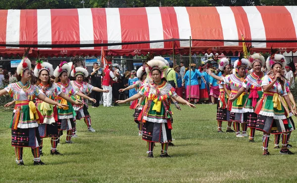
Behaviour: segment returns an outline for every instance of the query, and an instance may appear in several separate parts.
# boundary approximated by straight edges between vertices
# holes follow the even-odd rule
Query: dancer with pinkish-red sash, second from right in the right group
[[[254,136],[258,116],[258,114],[254,113],[254,107],[263,95],[261,83],[265,73],[261,71],[261,68],[265,65],[265,58],[259,53],[254,53],[249,57],[248,61],[249,67],[252,68],[252,73],[247,75],[243,86],[239,89],[236,95],[229,99],[229,101],[233,102],[243,92],[249,89],[247,101],[244,101],[245,105],[243,112],[247,115],[247,127],[250,128],[248,139],[249,142],[253,143],[255,142]]]

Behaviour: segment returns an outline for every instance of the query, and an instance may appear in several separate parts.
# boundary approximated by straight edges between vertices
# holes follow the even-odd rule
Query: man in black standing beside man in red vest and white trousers
[[[102,68],[99,67],[97,62],[93,63],[93,72],[91,73],[91,85],[94,87],[101,88],[101,76],[103,76]],[[92,108],[97,108],[100,105],[101,93],[93,91],[91,93],[91,98],[96,100],[96,103],[93,103]]]

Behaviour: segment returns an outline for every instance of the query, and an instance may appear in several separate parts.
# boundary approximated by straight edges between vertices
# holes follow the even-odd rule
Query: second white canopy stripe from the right
[[[266,40],[262,16],[257,7],[243,6],[243,8],[247,13],[251,40]],[[252,42],[251,45],[256,48],[266,48],[266,42]]]

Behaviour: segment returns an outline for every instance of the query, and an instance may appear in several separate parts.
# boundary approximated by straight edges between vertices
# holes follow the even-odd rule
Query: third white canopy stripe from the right
[[[225,40],[238,40],[237,26],[232,9],[228,6],[216,7],[221,20],[223,37]],[[238,46],[238,42],[225,42],[224,46]]]

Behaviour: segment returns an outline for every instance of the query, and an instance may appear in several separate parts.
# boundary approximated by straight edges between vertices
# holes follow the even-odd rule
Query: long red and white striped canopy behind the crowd
[[[99,55],[100,43],[119,55],[184,52],[192,41],[194,52],[241,51],[241,42],[226,40],[276,40],[252,42],[255,50],[271,46],[284,51],[297,48],[297,6],[139,7],[0,10],[0,45],[31,45],[45,55]],[[217,39],[220,41],[210,41]],[[224,41],[225,40],[225,41]],[[295,42],[294,42],[295,41]],[[38,45],[77,45],[75,48],[38,48]],[[81,47],[84,44],[98,47]],[[97,44],[97,45],[96,45]],[[247,43],[248,44],[248,43]],[[80,46],[81,45],[81,46]],[[0,53],[23,49],[2,47]]]

